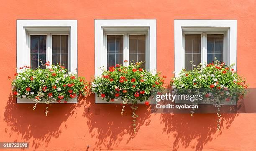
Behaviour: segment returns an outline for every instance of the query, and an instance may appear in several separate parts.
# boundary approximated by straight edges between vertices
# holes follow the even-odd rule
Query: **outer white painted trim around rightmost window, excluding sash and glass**
[[[175,77],[184,68],[184,50],[182,49],[182,31],[227,31],[226,49],[228,65],[235,64],[237,52],[237,20],[174,20],[174,67]],[[205,43],[205,41],[203,41]],[[205,49],[205,48],[204,48]],[[205,53],[205,50],[203,51]]]

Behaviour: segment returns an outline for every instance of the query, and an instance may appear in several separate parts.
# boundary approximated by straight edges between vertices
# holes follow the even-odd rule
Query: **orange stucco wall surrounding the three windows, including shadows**
[[[33,104],[15,103],[7,78],[15,73],[17,19],[77,20],[78,70],[87,80],[95,72],[94,19],[156,19],[157,69],[167,79],[174,71],[174,19],[232,19],[237,20],[238,73],[256,87],[255,0],[6,0],[0,11],[0,142],[30,142],[27,151],[256,150],[255,114],[223,115],[218,132],[216,115],[150,114],[139,105],[133,135],[131,112],[122,117],[119,104],[96,105],[91,95],[75,105],[51,105],[46,117],[44,104],[33,111]]]

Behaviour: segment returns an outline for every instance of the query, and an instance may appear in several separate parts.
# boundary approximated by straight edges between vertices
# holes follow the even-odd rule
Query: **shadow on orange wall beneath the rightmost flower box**
[[[161,114],[164,124],[163,133],[175,138],[173,151],[179,147],[195,148],[202,151],[205,144],[221,135],[223,129],[228,129],[238,114],[221,114],[220,131],[217,130],[217,114]]]

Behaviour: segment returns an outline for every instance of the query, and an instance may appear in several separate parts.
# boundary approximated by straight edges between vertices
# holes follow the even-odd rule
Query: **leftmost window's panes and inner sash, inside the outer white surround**
[[[41,66],[46,61],[52,64],[62,64],[62,66],[69,69],[68,55],[69,55],[69,35],[47,33],[47,35],[37,35],[36,33],[29,34],[30,38],[30,67],[31,69],[45,68]],[[51,41],[47,44],[46,41]],[[47,54],[52,56],[46,57]]]

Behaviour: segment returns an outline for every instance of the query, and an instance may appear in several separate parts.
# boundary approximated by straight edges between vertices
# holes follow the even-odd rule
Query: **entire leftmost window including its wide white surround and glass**
[[[44,68],[38,59],[76,72],[77,20],[17,20],[17,67]]]

